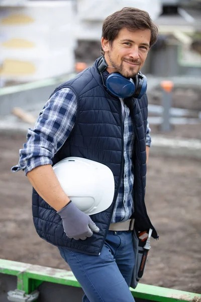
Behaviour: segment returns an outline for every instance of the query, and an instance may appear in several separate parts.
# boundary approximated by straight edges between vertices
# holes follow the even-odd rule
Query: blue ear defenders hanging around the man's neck
[[[98,63],[97,69],[100,75],[108,67],[108,64],[104,57],[102,57]],[[104,80],[103,80],[104,84]],[[115,96],[119,98],[129,98],[133,97],[136,99],[141,99],[145,95],[147,90],[147,78],[141,72],[136,74],[134,79],[127,79],[123,77],[119,72],[112,72],[108,75],[106,80],[106,88]]]

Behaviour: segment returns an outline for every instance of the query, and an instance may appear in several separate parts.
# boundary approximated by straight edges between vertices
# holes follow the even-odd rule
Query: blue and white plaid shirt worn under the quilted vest
[[[27,143],[20,149],[19,165],[12,172],[24,170],[25,174],[42,165],[52,165],[52,158],[68,138],[76,119],[76,96],[69,88],[56,92],[45,104],[34,129],[28,129]],[[124,106],[124,176],[117,197],[112,223],[126,221],[134,211],[132,188],[134,182],[132,146],[135,138],[129,108]],[[150,128],[147,127],[146,144],[151,145]]]

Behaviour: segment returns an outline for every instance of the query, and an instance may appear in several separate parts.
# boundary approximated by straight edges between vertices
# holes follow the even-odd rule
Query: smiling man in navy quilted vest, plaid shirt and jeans
[[[124,8],[109,16],[101,39],[104,57],[54,91],[12,169],[23,169],[33,185],[36,230],[58,246],[85,292],[84,302],[133,301],[134,219],[136,231],[151,228],[157,238],[144,203],[147,96],[117,97],[107,83],[114,71],[131,85],[130,78],[141,81],[138,72],[157,33],[147,12]],[[107,210],[89,217],[63,192],[52,164],[69,156],[112,170],[115,196]]]

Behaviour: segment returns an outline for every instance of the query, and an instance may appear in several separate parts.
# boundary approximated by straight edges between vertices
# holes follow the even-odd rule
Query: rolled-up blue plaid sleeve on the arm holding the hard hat
[[[76,119],[77,100],[73,91],[63,88],[45,104],[34,129],[29,128],[27,142],[20,149],[19,165],[11,171],[25,174],[42,165],[52,164],[52,158],[68,138]]]

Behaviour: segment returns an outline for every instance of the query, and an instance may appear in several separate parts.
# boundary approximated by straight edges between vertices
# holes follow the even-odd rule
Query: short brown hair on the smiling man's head
[[[150,29],[150,48],[156,43],[158,27],[153,23],[147,12],[136,8],[123,8],[121,11],[108,16],[103,23],[102,37],[112,43],[124,27],[131,31]],[[103,48],[101,52],[104,55]]]

